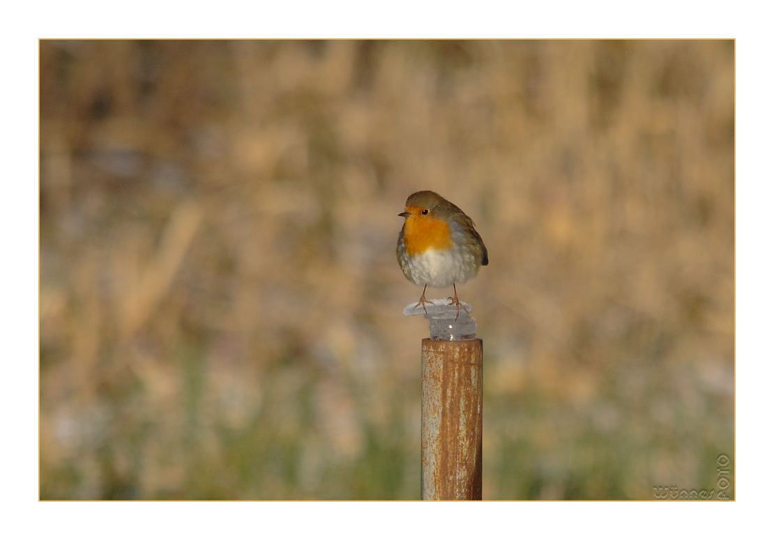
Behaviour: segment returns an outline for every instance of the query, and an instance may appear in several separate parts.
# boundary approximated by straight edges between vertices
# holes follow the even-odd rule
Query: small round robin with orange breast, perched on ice
[[[406,279],[424,285],[416,306],[425,308],[427,285],[441,289],[452,285],[460,315],[457,283],[478,274],[478,268],[489,264],[484,241],[474,229],[473,220],[448,200],[433,191],[418,191],[406,200],[405,217],[398,235],[398,262]],[[430,302],[433,303],[433,302]]]

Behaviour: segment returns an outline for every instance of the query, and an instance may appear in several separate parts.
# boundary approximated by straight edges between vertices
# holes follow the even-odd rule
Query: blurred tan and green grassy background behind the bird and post
[[[733,41],[39,53],[41,499],[419,498],[417,190],[489,251],[485,499],[734,497]]]

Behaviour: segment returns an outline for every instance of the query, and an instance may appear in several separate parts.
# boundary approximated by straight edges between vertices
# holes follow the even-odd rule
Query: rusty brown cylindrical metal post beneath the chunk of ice
[[[481,501],[483,351],[422,340],[423,501]]]

